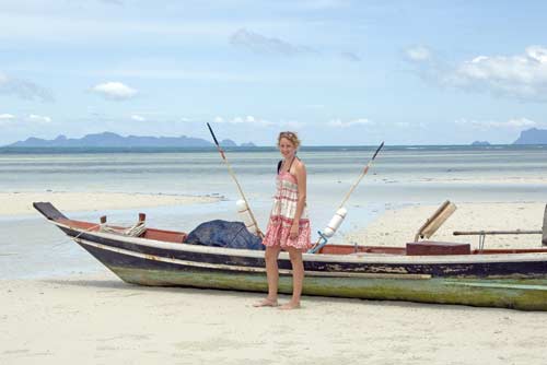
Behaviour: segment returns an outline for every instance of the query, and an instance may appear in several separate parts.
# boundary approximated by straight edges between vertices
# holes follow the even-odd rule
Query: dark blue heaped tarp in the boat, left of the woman
[[[186,244],[264,250],[263,239],[255,236],[242,222],[210,221],[188,234]]]

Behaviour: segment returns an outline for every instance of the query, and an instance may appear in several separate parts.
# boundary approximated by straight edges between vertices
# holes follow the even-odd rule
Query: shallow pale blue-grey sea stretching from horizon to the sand
[[[361,229],[385,210],[458,202],[547,202],[547,145],[302,148],[307,209],[323,229],[344,197],[348,216],[333,243]],[[280,154],[275,148],[226,149],[258,223],[265,229]],[[212,203],[147,208],[149,226],[190,232],[202,222],[237,221],[240,193],[226,162],[213,149],[0,149],[0,192],[129,192],[209,196]],[[139,210],[72,212],[78,220],[132,224]],[[410,233],[411,235],[411,233]],[[38,213],[0,217],[0,275],[51,278],[105,270]]]

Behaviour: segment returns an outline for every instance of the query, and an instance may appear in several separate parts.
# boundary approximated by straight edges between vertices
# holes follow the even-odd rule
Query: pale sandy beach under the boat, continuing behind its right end
[[[433,238],[453,240],[456,228],[539,228],[545,208],[457,205]],[[387,210],[346,239],[401,245],[435,209]],[[539,247],[540,237],[489,237],[487,246]],[[94,274],[2,280],[0,363],[546,362],[546,313],[327,297],[304,297],[302,309],[280,311],[252,307],[259,293],[133,286],[97,268]]]

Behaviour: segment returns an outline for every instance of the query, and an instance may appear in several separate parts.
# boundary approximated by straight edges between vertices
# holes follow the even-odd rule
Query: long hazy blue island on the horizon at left
[[[234,148],[237,144],[232,140],[219,142],[224,148]],[[59,136],[54,140],[44,140],[31,137],[7,145],[9,148],[210,148],[213,143],[193,137],[150,137],[127,136],[123,137],[113,132],[86,134],[82,138],[67,138]],[[243,143],[241,146],[254,148],[253,142]]]

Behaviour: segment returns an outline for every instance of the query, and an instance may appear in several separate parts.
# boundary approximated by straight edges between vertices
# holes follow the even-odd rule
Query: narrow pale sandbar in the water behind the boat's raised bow
[[[0,216],[33,214],[35,201],[49,201],[67,212],[100,211],[150,207],[187,205],[214,202],[222,197],[196,197],[179,195],[151,195],[124,192],[0,192]]]

